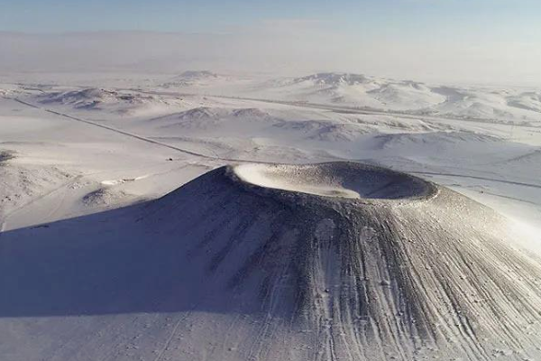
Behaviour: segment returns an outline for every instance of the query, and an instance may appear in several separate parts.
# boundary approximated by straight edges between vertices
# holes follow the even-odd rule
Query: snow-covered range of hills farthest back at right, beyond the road
[[[538,91],[441,87],[349,73],[309,75],[285,81],[281,87],[289,87],[291,97],[306,101],[436,116],[541,121]]]

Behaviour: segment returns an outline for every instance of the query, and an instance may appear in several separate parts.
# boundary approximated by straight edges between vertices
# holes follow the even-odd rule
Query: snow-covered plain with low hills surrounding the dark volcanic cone
[[[225,164],[248,163],[250,170],[250,162],[344,160],[381,164],[463,193],[529,235],[517,237],[517,246],[541,252],[538,88],[341,73],[0,79],[0,358],[280,356],[267,355],[264,344],[295,338],[287,322],[279,327],[254,317],[255,310],[239,312],[248,306],[220,304],[217,293],[183,297],[181,304],[177,297],[153,299],[175,277],[193,289],[220,279],[190,281],[189,268],[172,262],[179,250],[168,242],[177,230],[160,218],[186,222],[190,205],[176,205],[169,218],[167,212],[151,218],[147,205]],[[156,222],[151,227],[147,216]],[[142,238],[155,245],[145,248]],[[149,264],[131,264],[143,255]],[[197,307],[197,297],[205,297],[205,307]],[[299,339],[288,355],[306,355],[303,347]],[[239,348],[246,354],[239,356]],[[525,359],[521,352],[502,346],[487,358]]]

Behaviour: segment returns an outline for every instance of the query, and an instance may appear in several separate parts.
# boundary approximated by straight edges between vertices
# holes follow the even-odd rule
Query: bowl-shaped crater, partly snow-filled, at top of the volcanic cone
[[[355,162],[242,164],[234,174],[262,188],[342,199],[421,199],[436,193],[426,180]]]

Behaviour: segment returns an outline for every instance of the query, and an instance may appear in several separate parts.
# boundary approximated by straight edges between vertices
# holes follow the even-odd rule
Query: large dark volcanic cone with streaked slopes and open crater
[[[261,319],[238,359],[540,356],[539,261],[452,190],[349,162],[242,165],[147,211],[212,280],[196,303]]]

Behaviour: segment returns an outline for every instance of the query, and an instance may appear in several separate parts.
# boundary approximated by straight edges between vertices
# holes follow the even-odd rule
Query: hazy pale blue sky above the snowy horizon
[[[41,65],[54,64],[50,47],[76,47],[79,60],[91,50],[100,69],[153,63],[541,83],[541,1],[0,0],[0,70],[40,69],[31,57],[41,48]]]

